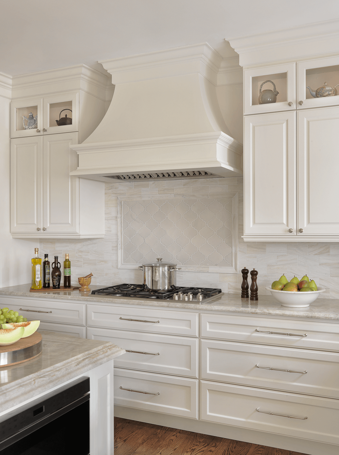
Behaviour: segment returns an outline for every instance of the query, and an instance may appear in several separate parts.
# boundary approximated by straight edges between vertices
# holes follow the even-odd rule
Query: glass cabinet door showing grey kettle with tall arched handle
[[[244,114],[296,109],[295,63],[244,70]]]

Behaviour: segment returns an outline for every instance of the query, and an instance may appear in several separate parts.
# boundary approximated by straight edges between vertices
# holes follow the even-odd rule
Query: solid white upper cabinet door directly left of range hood
[[[44,136],[43,206],[44,227],[49,233],[76,233],[78,227],[79,179],[70,177],[77,168],[78,133]]]

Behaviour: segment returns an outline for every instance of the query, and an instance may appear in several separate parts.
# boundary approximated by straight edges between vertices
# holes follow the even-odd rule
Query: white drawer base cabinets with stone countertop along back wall
[[[224,294],[198,304],[29,293],[27,284],[0,289],[3,306],[22,308],[43,328],[125,349],[115,361],[116,416],[338,453],[338,300],[297,309],[272,296]]]

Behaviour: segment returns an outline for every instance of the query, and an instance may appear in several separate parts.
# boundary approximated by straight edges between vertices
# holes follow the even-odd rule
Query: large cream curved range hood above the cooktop
[[[78,177],[104,182],[242,175],[242,145],[217,100],[222,57],[207,43],[100,61],[115,92],[93,133],[71,148]]]

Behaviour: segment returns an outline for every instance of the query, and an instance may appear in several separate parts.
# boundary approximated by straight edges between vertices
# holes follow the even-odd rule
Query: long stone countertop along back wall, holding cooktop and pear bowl
[[[103,286],[96,285],[90,286],[92,290],[102,287]],[[190,309],[195,311],[208,310],[229,313],[252,313],[297,318],[339,320],[339,300],[334,298],[319,297],[311,303],[309,307],[288,308],[281,306],[271,295],[259,295],[259,300],[253,302],[249,299],[241,298],[240,293],[228,293],[215,297],[213,300],[209,301],[209,303],[199,305],[197,303],[178,302],[173,300],[152,300],[150,298],[92,296],[90,292],[84,293],[79,292],[79,290],[55,293],[35,293],[30,292],[30,284],[0,288],[0,296],[3,295],[72,300],[75,302],[78,301],[92,304],[104,303],[105,305],[127,304],[147,307]]]

